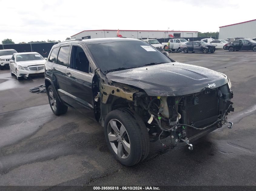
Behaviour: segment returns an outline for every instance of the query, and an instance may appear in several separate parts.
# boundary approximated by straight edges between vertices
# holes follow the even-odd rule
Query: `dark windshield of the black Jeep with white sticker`
[[[174,62],[144,41],[125,41],[88,45],[102,72],[136,68],[145,64]]]

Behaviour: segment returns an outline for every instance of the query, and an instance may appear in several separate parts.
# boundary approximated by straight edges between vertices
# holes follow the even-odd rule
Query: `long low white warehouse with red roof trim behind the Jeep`
[[[71,39],[89,39],[89,38],[111,38],[111,37],[126,37],[135,39],[147,38],[170,38],[181,37],[190,38],[197,37],[198,31],[177,31],[177,30],[83,30],[71,36]]]

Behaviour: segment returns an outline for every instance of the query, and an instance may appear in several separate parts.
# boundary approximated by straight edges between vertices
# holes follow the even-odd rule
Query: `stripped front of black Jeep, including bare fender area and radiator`
[[[198,93],[176,96],[149,96],[143,89],[133,85],[109,80],[96,71],[93,81],[95,117],[104,126],[105,116],[118,108],[129,108],[145,122],[151,142],[170,136],[177,147],[191,142],[221,128],[228,123],[227,115],[234,111],[230,80],[226,84],[208,84]],[[194,88],[195,89],[195,88]],[[151,92],[152,94],[152,92]],[[164,144],[162,144],[165,146]]]

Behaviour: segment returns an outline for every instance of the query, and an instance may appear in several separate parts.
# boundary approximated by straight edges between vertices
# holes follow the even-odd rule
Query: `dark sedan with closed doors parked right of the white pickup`
[[[214,53],[217,45],[208,44],[203,41],[193,41],[185,43],[185,45],[181,46],[181,51],[184,53],[188,52],[202,52],[202,53]]]

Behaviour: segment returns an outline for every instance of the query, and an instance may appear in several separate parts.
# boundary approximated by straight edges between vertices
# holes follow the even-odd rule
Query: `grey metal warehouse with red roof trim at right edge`
[[[219,39],[227,40],[235,37],[251,39],[256,37],[256,19],[220,27]]]

